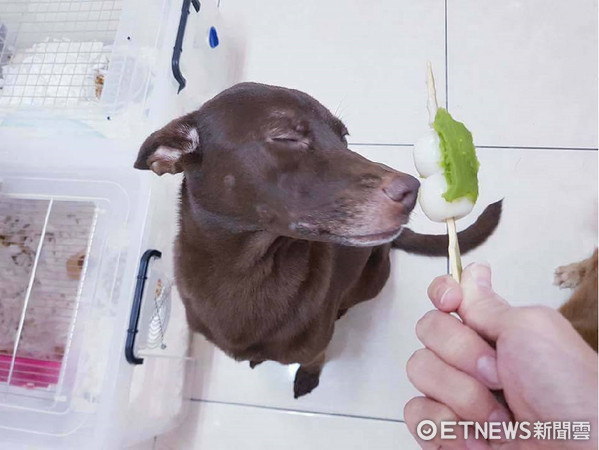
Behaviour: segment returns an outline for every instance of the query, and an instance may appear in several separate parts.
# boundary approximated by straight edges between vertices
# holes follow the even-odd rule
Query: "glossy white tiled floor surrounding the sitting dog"
[[[505,198],[496,234],[465,262],[490,262],[514,304],[564,301],[554,268],[597,242],[596,2],[222,0],[221,9],[245,22],[246,79],[340,107],[354,150],[409,173],[410,148],[392,144],[426,127],[427,59],[444,98],[447,17],[449,109],[482,144],[480,200],[460,227]],[[411,226],[444,231],[420,211]],[[443,259],[396,252],[383,293],[338,322],[321,385],[299,400],[294,367],[250,370],[197,337],[189,418],[140,448],[415,448],[401,422],[415,394],[404,365],[430,309],[426,287],[444,271]]]

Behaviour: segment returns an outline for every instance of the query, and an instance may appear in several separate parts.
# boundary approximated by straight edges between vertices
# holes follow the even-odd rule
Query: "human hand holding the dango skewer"
[[[429,419],[506,422],[584,421],[597,448],[597,354],[557,311],[511,307],[491,287],[491,269],[468,266],[458,284],[436,278],[428,294],[437,310],[416,324],[425,348],[407,363],[410,381],[426,397],[411,399],[404,417],[414,436]],[[450,315],[457,312],[462,319]],[[507,407],[493,390],[503,389]],[[459,430],[456,429],[456,430]],[[459,433],[456,433],[459,434]],[[417,440],[419,440],[417,438]],[[564,448],[559,440],[419,440],[423,448]]]

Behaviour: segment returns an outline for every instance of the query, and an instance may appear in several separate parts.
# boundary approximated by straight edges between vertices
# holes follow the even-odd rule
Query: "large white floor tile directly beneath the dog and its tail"
[[[411,151],[404,147],[359,147],[364,156],[413,173]],[[483,207],[505,198],[496,234],[465,262],[486,260],[494,268],[498,292],[514,304],[557,306],[567,291],[552,285],[555,267],[589,255],[597,240],[597,152],[482,149],[481,196],[462,221],[466,227]],[[410,226],[444,232],[420,210]],[[383,292],[352,308],[337,322],[320,386],[293,399],[296,366],[266,362],[251,370],[196,338],[199,358],[193,396],[285,409],[401,419],[405,402],[415,395],[404,367],[419,343],[414,324],[430,303],[426,288],[444,273],[443,258],[395,251],[392,273]]]

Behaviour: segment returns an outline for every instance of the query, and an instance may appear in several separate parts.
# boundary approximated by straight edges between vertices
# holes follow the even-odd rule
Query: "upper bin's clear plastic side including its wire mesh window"
[[[0,0],[0,120],[114,120],[150,89],[166,0]]]

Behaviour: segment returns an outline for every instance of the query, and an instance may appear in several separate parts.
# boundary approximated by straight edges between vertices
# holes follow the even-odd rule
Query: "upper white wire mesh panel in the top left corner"
[[[99,102],[123,0],[0,0],[0,108]]]

